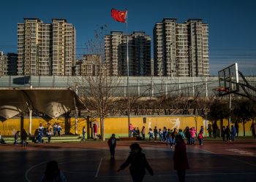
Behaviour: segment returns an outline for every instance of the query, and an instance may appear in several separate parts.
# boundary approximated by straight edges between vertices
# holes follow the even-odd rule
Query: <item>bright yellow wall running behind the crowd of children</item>
[[[34,131],[39,127],[39,123],[42,123],[44,127],[47,127],[47,123],[50,124],[59,123],[62,127],[62,133],[65,131],[65,119],[42,119],[42,118],[33,118],[32,119],[32,135],[34,135]],[[98,121],[99,122],[99,121]],[[164,126],[170,129],[174,129],[175,127],[178,129],[184,130],[185,127],[195,127],[197,128],[197,132],[200,130],[200,126],[204,126],[205,135],[208,133],[206,128],[208,124],[212,124],[209,121],[206,121],[202,117],[193,117],[193,116],[147,116],[146,123],[143,123],[143,116],[134,116],[130,118],[130,122],[133,127],[141,128],[143,126],[146,127],[146,134],[148,133],[149,127],[152,129],[157,126],[157,128],[163,128]],[[220,122],[217,122],[220,128]],[[246,135],[252,135],[250,131],[250,126],[252,122],[246,122],[245,130]],[[223,125],[227,126],[227,120],[223,121]],[[14,135],[17,130],[20,130],[21,122],[20,118],[12,118],[7,119],[5,121],[0,122],[0,132],[1,135]],[[78,118],[78,134],[82,133],[82,128],[85,126],[87,128],[87,123],[85,118]],[[113,118],[105,118],[105,138],[109,138],[112,133],[116,134],[116,137],[119,136],[128,136],[128,119],[127,117],[113,117]],[[23,119],[23,128],[29,132],[29,118]],[[91,130],[90,130],[91,131]],[[100,128],[98,128],[100,132]],[[70,119],[70,133],[75,134],[75,118]],[[243,125],[239,124],[239,135],[244,135]],[[148,135],[146,135],[148,137]]]

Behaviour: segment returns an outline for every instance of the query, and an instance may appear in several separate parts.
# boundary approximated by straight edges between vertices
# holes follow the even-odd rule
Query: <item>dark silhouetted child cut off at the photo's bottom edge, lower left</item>
[[[47,168],[45,173],[42,175],[40,182],[48,181],[67,182],[64,174],[59,170],[58,162],[54,160],[47,163]]]

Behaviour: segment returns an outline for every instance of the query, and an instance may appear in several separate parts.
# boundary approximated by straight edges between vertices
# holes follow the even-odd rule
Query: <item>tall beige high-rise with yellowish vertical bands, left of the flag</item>
[[[71,75],[75,61],[75,27],[65,19],[18,23],[18,75]]]

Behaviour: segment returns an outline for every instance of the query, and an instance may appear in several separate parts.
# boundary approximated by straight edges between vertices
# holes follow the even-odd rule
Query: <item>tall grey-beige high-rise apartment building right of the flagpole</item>
[[[153,34],[155,76],[209,76],[208,24],[164,18]]]

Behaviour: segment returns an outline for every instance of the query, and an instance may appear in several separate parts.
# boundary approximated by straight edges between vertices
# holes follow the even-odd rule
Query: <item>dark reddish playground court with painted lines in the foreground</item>
[[[118,141],[115,159],[102,141],[83,143],[29,143],[0,145],[0,181],[39,181],[46,163],[55,159],[67,181],[132,181],[129,169],[116,173],[129,154],[132,141]],[[177,181],[173,170],[173,149],[164,143],[139,141],[154,176],[144,181]],[[203,146],[187,146],[190,170],[187,181],[256,181],[256,140],[234,143],[204,141]]]

